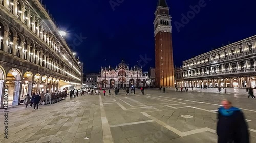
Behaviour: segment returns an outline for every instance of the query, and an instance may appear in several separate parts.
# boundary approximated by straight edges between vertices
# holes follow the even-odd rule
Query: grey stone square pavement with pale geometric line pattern
[[[130,96],[120,90],[116,96],[67,98],[39,110],[20,105],[8,109],[8,139],[3,134],[4,110],[0,111],[0,142],[217,142],[215,110],[223,98],[243,109],[251,142],[256,142],[256,100],[229,90],[218,94],[214,89],[168,89],[163,94],[146,89],[145,95],[136,90]]]

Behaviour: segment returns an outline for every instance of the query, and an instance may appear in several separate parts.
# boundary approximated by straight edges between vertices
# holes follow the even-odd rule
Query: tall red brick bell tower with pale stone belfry
[[[157,87],[175,86],[171,18],[166,0],[158,0],[154,20]]]

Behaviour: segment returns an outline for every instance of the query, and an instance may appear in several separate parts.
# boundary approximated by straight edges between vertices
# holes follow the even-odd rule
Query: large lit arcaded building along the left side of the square
[[[82,68],[39,0],[0,1],[1,107],[33,92],[80,88]]]

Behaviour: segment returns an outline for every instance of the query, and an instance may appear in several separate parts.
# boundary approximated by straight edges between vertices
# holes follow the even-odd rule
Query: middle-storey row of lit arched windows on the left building
[[[50,54],[42,48],[36,47],[29,38],[24,38],[23,34],[17,34],[14,28],[9,28],[5,22],[0,21],[0,50],[18,56],[34,64],[48,68],[69,77],[80,75],[69,68],[66,63],[58,60],[56,56]],[[73,76],[71,76],[73,75]]]

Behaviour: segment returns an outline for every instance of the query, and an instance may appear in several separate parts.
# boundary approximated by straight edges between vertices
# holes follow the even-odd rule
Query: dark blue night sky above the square
[[[85,72],[98,72],[101,65],[115,66],[123,59],[136,65],[140,56],[152,60],[144,71],[154,67],[154,12],[158,0],[112,0],[122,2],[114,10],[109,0],[73,0],[43,3],[57,24],[68,31],[67,41],[75,35],[87,37],[72,50],[84,62]],[[202,0],[200,0],[202,1]],[[172,15],[174,64],[256,34],[255,0],[205,1],[205,7],[177,31],[174,22],[187,14],[198,0],[167,0]],[[107,61],[105,62],[105,59]]]

